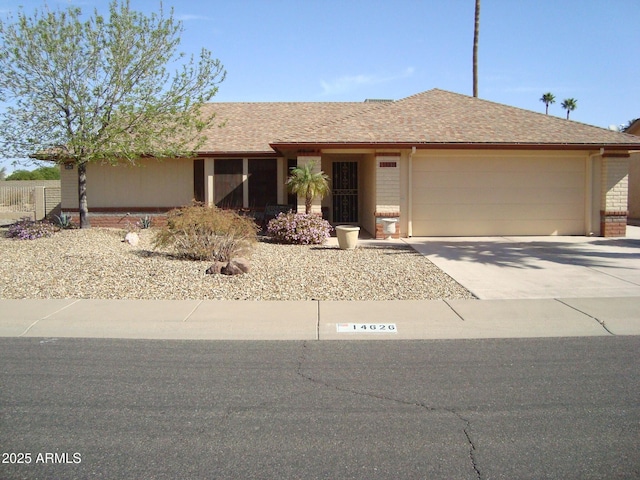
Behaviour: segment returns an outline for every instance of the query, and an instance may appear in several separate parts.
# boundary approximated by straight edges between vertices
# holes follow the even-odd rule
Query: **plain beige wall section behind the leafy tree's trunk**
[[[62,208],[78,208],[78,170],[62,168]],[[89,164],[87,198],[92,208],[169,208],[193,200],[193,160],[142,160],[139,166]]]

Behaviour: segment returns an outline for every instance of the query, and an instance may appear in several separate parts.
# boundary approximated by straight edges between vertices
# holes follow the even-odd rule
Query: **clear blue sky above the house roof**
[[[41,1],[0,0],[0,14]],[[108,0],[48,0],[107,12]],[[150,12],[158,0],[131,0]],[[474,0],[165,0],[181,50],[213,52],[216,101],[400,99],[432,88],[472,94]],[[482,0],[479,96],[544,113],[545,92],[575,98],[571,119],[640,117],[640,0]],[[7,170],[13,167],[7,163]]]

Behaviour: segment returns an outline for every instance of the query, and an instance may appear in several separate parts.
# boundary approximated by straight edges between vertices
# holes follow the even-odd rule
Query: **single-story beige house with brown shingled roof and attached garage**
[[[304,201],[287,172],[315,161],[332,192],[314,210],[333,224],[396,236],[623,236],[628,169],[640,138],[429,90],[397,101],[211,103],[225,122],[194,158],[137,167],[90,164],[93,225],[194,199],[264,209]],[[77,212],[77,172],[62,168],[62,209]]]

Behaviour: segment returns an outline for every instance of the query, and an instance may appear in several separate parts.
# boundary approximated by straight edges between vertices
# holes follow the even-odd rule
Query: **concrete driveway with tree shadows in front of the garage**
[[[640,297],[640,227],[625,238],[413,237],[480,299]]]

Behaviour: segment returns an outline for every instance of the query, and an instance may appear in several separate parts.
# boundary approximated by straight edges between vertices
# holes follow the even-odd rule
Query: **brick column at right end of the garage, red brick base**
[[[629,195],[629,154],[602,155],[602,198],[600,235],[624,237],[627,231]]]

